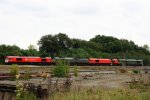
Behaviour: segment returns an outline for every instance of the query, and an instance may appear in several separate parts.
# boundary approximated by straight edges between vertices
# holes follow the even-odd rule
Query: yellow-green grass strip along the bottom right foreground
[[[70,92],[56,93],[48,100],[150,100],[149,92],[137,90],[104,90],[98,88],[73,89]]]

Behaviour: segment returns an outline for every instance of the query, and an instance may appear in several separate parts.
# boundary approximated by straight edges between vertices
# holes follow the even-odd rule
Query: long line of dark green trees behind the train
[[[50,56],[73,58],[130,58],[143,59],[145,65],[150,65],[150,51],[148,45],[142,47],[133,41],[118,39],[112,36],[96,35],[89,41],[69,38],[64,33],[42,36],[39,50],[30,45],[28,49],[20,49],[13,45],[0,45],[0,58],[6,55],[19,56]]]

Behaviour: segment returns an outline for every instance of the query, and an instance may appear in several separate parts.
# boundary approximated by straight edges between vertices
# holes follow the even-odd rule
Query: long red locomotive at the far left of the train
[[[5,64],[51,64],[50,57],[6,56]]]

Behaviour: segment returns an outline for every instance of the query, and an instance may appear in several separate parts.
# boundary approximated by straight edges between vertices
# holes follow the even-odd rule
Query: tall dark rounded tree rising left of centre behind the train
[[[71,39],[63,33],[45,35],[38,41],[39,50],[43,56],[59,56],[72,47]]]

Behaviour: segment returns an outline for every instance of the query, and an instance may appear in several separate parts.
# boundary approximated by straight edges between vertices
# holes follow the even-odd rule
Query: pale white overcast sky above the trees
[[[26,49],[46,34],[95,35],[150,45],[149,0],[0,0],[0,44]]]

